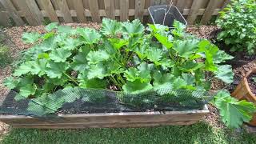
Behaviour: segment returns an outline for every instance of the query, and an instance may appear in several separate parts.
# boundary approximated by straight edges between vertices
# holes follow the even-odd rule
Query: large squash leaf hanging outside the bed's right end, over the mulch
[[[219,91],[214,97],[214,105],[220,110],[222,122],[230,128],[242,126],[242,122],[250,122],[256,106],[246,100],[238,101],[232,98],[228,91]]]

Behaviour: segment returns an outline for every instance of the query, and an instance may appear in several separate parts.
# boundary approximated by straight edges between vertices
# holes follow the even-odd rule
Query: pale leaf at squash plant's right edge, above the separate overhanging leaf
[[[230,65],[218,66],[218,70],[214,72],[215,77],[219,78],[223,82],[232,83],[234,78],[234,73]]]

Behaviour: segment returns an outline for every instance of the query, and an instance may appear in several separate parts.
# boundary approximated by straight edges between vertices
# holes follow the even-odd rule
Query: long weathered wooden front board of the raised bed
[[[40,119],[23,115],[0,115],[0,121],[14,128],[80,129],[102,127],[143,127],[190,125],[209,113],[202,110],[162,112],[127,112],[108,114],[58,114],[58,119]]]

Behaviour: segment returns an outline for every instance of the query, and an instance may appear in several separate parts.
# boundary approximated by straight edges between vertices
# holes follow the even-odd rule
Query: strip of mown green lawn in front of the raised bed
[[[256,135],[235,134],[205,122],[192,126],[129,129],[11,130],[2,143],[255,143]]]

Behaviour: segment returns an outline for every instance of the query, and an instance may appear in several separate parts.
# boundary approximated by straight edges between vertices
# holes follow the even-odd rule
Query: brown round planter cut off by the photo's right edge
[[[236,87],[234,92],[231,94],[234,98],[238,98],[239,100],[245,99],[248,102],[254,102],[256,104],[256,94],[250,90],[250,86],[248,84],[247,78],[250,74],[256,74],[256,68],[250,70],[243,78],[239,85]],[[251,126],[256,126],[256,113],[254,114],[254,118],[249,122]]]

